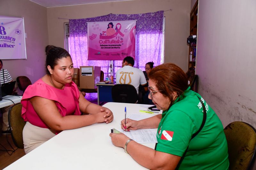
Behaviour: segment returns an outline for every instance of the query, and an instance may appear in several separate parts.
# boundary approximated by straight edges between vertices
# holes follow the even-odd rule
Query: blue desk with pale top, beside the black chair
[[[115,85],[115,83],[97,84],[98,105],[100,105],[100,102],[113,102],[112,100],[113,85]]]

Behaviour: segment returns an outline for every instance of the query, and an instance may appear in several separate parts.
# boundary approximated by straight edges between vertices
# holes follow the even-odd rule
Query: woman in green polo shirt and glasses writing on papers
[[[205,100],[188,87],[180,67],[161,64],[148,74],[148,98],[163,114],[134,121],[121,121],[129,131],[157,128],[156,150],[130,140],[123,133],[110,133],[115,146],[125,148],[132,158],[148,169],[228,169],[228,146],[222,123]],[[203,110],[206,122],[203,122]],[[193,138],[193,134],[199,133]]]

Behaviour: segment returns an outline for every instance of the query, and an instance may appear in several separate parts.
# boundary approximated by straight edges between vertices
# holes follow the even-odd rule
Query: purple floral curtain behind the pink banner
[[[134,67],[144,70],[145,64],[148,62],[153,61],[154,66],[161,64],[163,19],[164,11],[145,14],[108,14],[93,18],[70,19],[69,53],[72,57],[74,67],[100,66],[105,78],[110,61],[87,60],[87,22],[124,20],[137,20]],[[121,66],[122,61],[113,61],[114,77],[116,71]],[[86,94],[86,98],[97,98],[97,94]]]

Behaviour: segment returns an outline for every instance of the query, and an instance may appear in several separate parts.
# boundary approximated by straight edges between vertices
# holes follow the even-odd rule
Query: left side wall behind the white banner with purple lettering
[[[1,0],[0,15],[24,17],[27,33],[27,60],[3,60],[3,68],[10,72],[13,80],[18,76],[27,76],[34,83],[45,74],[44,48],[48,45],[47,10],[28,0]],[[19,94],[22,92],[19,91]]]

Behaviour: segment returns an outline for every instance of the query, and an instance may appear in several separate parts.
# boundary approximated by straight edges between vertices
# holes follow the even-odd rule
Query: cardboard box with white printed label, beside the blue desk
[[[100,67],[80,66],[80,88],[96,89],[96,84],[100,81]]]

